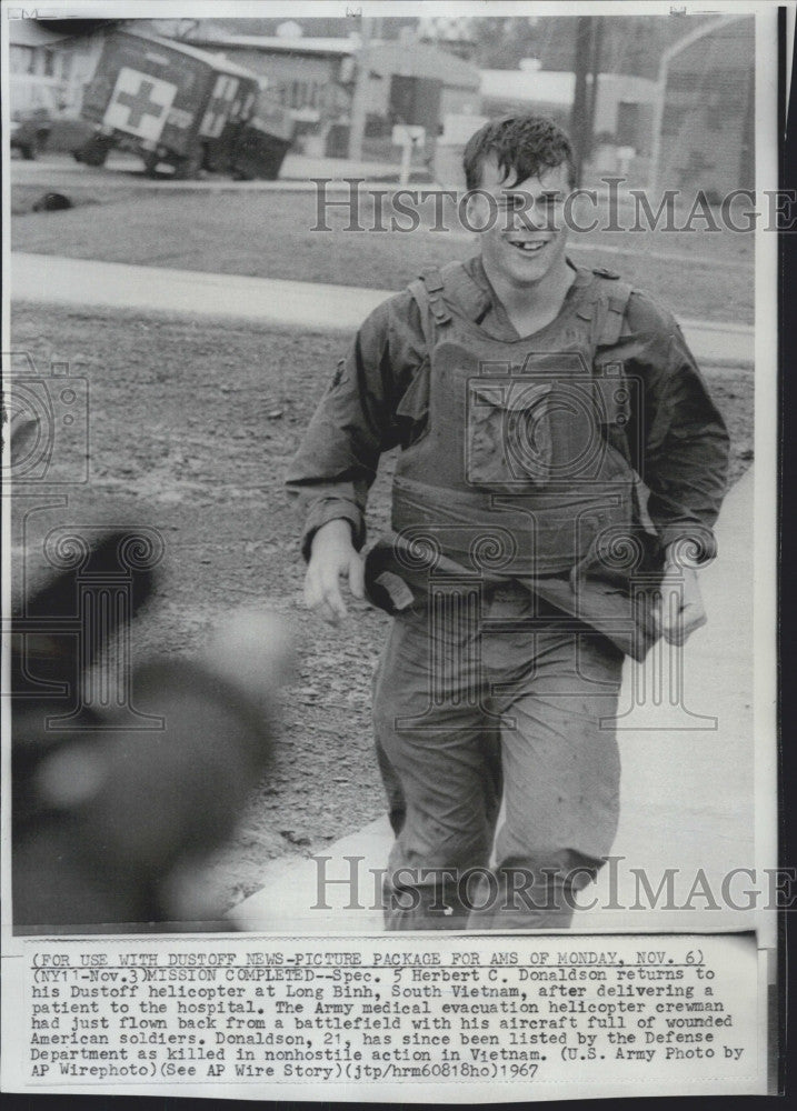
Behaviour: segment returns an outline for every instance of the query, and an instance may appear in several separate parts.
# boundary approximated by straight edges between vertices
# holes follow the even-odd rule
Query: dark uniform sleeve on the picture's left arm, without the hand
[[[395,411],[424,358],[420,312],[409,292],[363,322],[321,399],[287,476],[309,559],[321,526],[346,520],[355,547],[366,540],[365,510],[381,452],[397,441]]]

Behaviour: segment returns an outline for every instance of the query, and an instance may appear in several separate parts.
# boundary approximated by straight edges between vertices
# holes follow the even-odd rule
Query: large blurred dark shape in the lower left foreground
[[[111,608],[99,633],[94,623],[88,650],[87,635],[61,630],[84,614],[79,575],[112,575],[131,538],[102,537],[79,569],[27,599],[12,625],[20,933],[218,929],[225,908],[207,904],[192,875],[233,829],[271,757],[291,648],[263,611],[231,614],[199,659],[149,659],[117,675],[127,703],[83,700],[88,669],[129,637],[152,571],[129,575],[127,612]],[[53,684],[63,693],[53,697]]]

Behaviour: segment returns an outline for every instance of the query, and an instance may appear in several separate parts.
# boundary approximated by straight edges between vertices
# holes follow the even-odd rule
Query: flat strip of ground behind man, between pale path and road
[[[369,289],[402,289],[425,267],[474,253],[475,237],[446,204],[419,202],[420,224],[402,233],[390,230],[409,218],[393,212],[385,187],[380,202],[368,199],[350,230],[350,210],[321,209],[312,192],[171,192],[152,193],[77,182],[62,187],[74,208],[32,212],[44,187],[18,184],[12,190],[12,249],[68,258],[98,259],[149,267],[172,267],[293,281],[331,282]],[[330,200],[340,194],[330,194]],[[380,209],[377,221],[375,208]],[[587,227],[596,217],[578,217]],[[734,214],[738,226],[741,217]],[[634,227],[625,211],[621,226]],[[681,224],[686,219],[680,218]],[[432,230],[439,223],[450,230]],[[680,226],[680,224],[678,224]],[[696,231],[626,230],[570,233],[576,262],[607,267],[645,289],[677,316],[697,320],[751,323],[754,316],[754,237],[727,229]],[[328,227],[329,231],[313,230]],[[645,220],[639,218],[639,227]]]

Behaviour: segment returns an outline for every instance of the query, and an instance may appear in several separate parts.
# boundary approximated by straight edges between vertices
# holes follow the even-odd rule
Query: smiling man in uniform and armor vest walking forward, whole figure
[[[673,317],[569,260],[567,136],[501,119],[464,166],[479,254],[365,321],[288,488],[308,605],[338,624],[348,583],[393,615],[388,928],[561,929],[617,828],[622,660],[706,620],[728,440]],[[397,446],[393,531],[363,560]]]

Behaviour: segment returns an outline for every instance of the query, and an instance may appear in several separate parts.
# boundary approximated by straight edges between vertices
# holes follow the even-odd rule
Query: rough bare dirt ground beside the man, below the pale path
[[[370,681],[388,619],[353,603],[339,630],[301,607],[287,463],[342,353],[339,336],[109,310],[14,304],[13,347],[40,374],[64,359],[86,378],[90,479],[40,499],[34,536],[54,523],[150,524],[166,541],[157,597],[133,652],[198,652],[231,608],[286,614],[300,671],[285,699],[272,772],[232,843],[208,870],[226,904],[261,885],[266,861],[323,851],[383,811],[370,734]],[[734,438],[733,478],[751,459],[753,374],[706,371]],[[387,524],[391,461],[371,496],[369,531]],[[20,499],[14,540],[27,507]],[[43,573],[29,563],[32,580]]]

